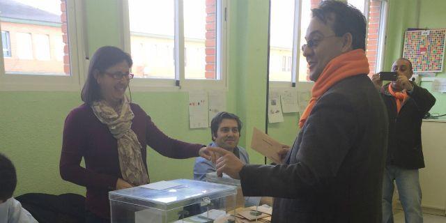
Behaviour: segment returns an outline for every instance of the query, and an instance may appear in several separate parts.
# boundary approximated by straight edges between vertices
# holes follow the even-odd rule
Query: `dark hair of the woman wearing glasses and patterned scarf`
[[[87,105],[91,105],[94,101],[101,99],[100,87],[94,77],[95,71],[98,70],[100,73],[105,72],[108,68],[122,61],[127,61],[130,68],[133,65],[132,57],[118,47],[106,46],[96,50],[95,54],[91,57],[89,74],[86,77],[86,82],[81,93],[81,98]]]

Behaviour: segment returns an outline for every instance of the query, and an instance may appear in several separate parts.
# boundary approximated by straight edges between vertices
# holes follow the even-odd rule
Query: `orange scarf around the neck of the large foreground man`
[[[331,86],[347,77],[369,73],[369,61],[364,49],[355,49],[332,59],[325,66],[312,89],[312,99],[305,112],[300,116],[299,127],[304,126],[317,100],[328,91]]]

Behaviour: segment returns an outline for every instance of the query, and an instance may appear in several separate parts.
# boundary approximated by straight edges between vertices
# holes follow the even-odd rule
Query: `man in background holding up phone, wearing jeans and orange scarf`
[[[412,63],[400,58],[392,65],[389,74],[372,76],[387,107],[389,137],[387,161],[383,178],[383,222],[393,222],[392,195],[395,180],[406,222],[423,222],[422,192],[418,169],[424,168],[421,141],[422,118],[435,104],[436,99],[409,79],[413,75]],[[383,86],[383,80],[390,80]]]

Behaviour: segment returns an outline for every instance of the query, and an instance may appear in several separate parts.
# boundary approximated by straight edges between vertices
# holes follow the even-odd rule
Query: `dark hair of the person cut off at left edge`
[[[16,185],[17,175],[13,162],[0,153],[0,200],[6,201],[13,197]]]

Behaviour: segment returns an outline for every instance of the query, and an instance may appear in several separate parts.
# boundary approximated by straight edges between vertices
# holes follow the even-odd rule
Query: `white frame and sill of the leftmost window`
[[[80,83],[83,82],[84,75],[80,74],[85,70],[82,7],[82,1],[66,0],[70,76],[26,75],[20,72],[8,74],[5,71],[2,50],[0,52],[0,91],[79,91],[82,88]]]

